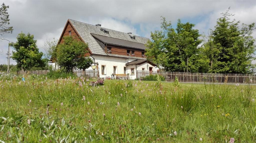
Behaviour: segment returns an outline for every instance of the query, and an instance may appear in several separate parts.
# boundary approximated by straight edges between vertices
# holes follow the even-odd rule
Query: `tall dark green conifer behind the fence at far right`
[[[242,24],[240,21],[230,20],[234,16],[229,13],[230,8],[222,13],[212,32],[211,48],[215,49],[216,58],[212,61],[212,72],[215,73],[252,73],[254,60],[255,39],[251,36],[255,23]],[[210,58],[210,57],[209,57]]]

